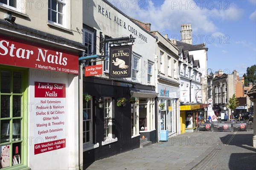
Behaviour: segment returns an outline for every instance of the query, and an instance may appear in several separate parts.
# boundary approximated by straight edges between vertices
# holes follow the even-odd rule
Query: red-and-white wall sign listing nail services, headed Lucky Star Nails
[[[34,154],[66,147],[66,85],[35,82]]]

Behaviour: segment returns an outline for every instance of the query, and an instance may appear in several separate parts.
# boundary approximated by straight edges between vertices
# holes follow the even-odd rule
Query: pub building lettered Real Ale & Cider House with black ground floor
[[[142,136],[148,142],[157,142],[155,97],[158,94],[154,71],[156,37],[106,0],[83,2],[85,56],[100,56],[96,59],[98,61],[84,60],[84,70],[93,67],[89,65],[102,65],[103,69],[102,74],[84,77],[83,93],[93,96],[90,105],[84,103],[84,111],[89,118],[80,114],[81,125],[90,127],[80,127],[84,138],[84,152],[81,154],[84,163],[88,163],[138,148]],[[122,37],[133,37],[135,41],[126,43]],[[111,51],[119,48],[117,51],[122,53],[128,47],[119,45],[130,44],[133,44],[131,60],[121,59],[120,65],[116,60],[120,61],[120,57],[116,57],[119,54],[113,57]],[[105,60],[99,61],[100,58]],[[111,68],[120,71],[115,72]],[[130,74],[123,78],[116,73]],[[127,101],[120,106],[118,101],[121,97]],[[131,97],[136,97],[137,102],[130,103]],[[99,98],[104,101],[104,109],[99,108]]]

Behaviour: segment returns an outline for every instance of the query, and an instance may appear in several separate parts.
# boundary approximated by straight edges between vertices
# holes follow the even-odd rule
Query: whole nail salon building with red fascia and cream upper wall
[[[79,169],[81,15],[81,1],[0,2],[0,169]]]

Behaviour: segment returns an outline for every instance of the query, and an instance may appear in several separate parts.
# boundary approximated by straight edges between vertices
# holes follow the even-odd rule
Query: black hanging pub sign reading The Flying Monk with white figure
[[[131,45],[110,47],[109,78],[131,77]]]

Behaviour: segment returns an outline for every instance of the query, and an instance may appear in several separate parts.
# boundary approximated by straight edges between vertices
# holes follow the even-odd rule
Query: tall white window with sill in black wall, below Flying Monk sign
[[[113,138],[114,134],[113,134],[113,119],[114,119],[114,112],[112,110],[112,98],[111,97],[104,97],[104,123],[105,123],[105,119],[109,119],[108,120],[108,128],[109,128],[109,133],[106,132],[106,136],[104,136],[104,139],[102,141],[102,145],[105,144],[110,144],[113,142],[117,141],[117,138]],[[107,111],[107,113],[106,113]],[[107,115],[105,117],[105,115]],[[105,127],[103,127],[103,130],[106,130]]]

